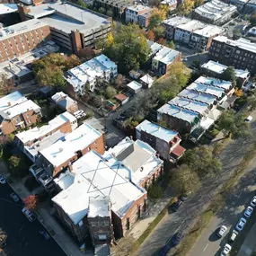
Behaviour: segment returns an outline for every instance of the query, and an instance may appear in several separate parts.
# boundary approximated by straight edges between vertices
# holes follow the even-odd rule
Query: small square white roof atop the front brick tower
[[[109,196],[99,196],[91,197],[89,199],[89,212],[88,217],[104,217],[110,216],[110,197]]]

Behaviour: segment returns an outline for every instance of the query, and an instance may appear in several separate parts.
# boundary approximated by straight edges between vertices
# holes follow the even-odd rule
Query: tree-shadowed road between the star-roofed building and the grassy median
[[[255,134],[256,111],[253,111],[251,115],[253,118],[251,123],[252,134]],[[215,178],[203,181],[202,188],[194,196],[187,199],[176,213],[164,216],[163,220],[154,228],[154,232],[142,243],[137,255],[157,255],[160,249],[165,243],[170,241],[172,235],[175,234],[177,230],[186,232],[188,227],[192,225],[194,218],[202,212],[203,206],[212,199],[216,187],[229,179],[231,172],[237,164],[240,163],[243,155],[246,154],[248,148],[255,140],[256,137],[251,137],[246,141],[231,141],[220,156],[220,160],[223,163],[222,172]],[[207,243],[205,246],[206,245]],[[171,253],[170,255],[172,255]],[[197,254],[197,256],[200,256],[200,254]],[[207,256],[210,255],[207,254]]]

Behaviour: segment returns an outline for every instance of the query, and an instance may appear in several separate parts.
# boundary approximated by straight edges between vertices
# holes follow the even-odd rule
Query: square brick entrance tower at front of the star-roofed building
[[[110,255],[110,245],[114,241],[109,196],[89,198],[88,225],[95,255]]]

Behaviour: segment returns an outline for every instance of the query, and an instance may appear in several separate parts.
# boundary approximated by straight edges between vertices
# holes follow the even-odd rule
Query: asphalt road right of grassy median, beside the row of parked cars
[[[235,187],[235,190],[227,195],[225,208],[217,213],[203,234],[201,234],[199,241],[191,250],[190,256],[219,255],[222,247],[227,243],[229,231],[234,229],[240,217],[243,216],[244,208],[248,206],[255,194],[255,171],[256,157],[252,160],[246,174]],[[220,225],[225,225],[228,228],[228,232],[222,239],[217,239],[216,230]]]

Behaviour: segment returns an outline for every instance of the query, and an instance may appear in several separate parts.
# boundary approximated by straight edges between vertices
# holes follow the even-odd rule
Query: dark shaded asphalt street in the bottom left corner
[[[0,227],[8,235],[6,256],[65,256],[53,238],[46,240],[39,234],[43,226],[38,220],[31,223],[22,214],[22,202],[16,204],[9,198],[12,192],[9,185],[0,184]]]

